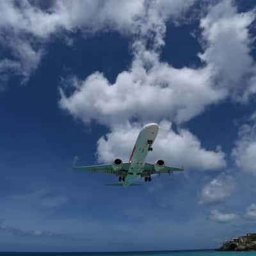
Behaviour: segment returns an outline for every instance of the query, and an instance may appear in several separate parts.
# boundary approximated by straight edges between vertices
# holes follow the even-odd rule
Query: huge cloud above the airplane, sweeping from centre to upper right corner
[[[164,24],[164,18],[156,19]],[[161,62],[154,47],[147,49],[143,37],[139,38],[133,44],[131,68],[118,74],[115,83],[109,83],[104,74],[95,72],[84,81],[70,84],[74,88],[71,95],[61,90],[60,106],[83,122],[97,120],[109,125],[133,118],[143,122],[150,118],[155,122],[163,118],[186,122],[233,91],[248,92],[248,86],[241,88],[244,81],[240,82],[244,77],[248,81],[253,77],[248,27],[254,19],[253,12],[237,13],[228,0],[209,8],[200,20],[205,40],[205,51],[200,58],[206,63],[200,68],[173,68]],[[155,41],[163,40],[164,29],[153,28]],[[157,102],[157,108],[152,109],[152,102]]]

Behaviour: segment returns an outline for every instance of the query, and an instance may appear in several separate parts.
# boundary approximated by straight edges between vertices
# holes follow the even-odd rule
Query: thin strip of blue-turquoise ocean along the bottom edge
[[[168,252],[0,252],[0,256],[256,256],[256,252],[216,252],[214,250],[168,251]]]

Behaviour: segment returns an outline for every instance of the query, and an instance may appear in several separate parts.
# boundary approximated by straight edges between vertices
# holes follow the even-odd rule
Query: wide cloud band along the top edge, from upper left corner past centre
[[[179,13],[193,3],[56,0],[42,6],[40,1],[1,1],[0,44],[12,51],[13,60],[20,61],[20,73],[26,82],[38,67],[45,43],[56,35],[65,37],[67,31],[72,34],[77,30],[84,35],[106,30],[129,35],[162,34],[163,20],[171,15],[178,19]],[[156,40],[156,45],[161,45],[160,41]]]

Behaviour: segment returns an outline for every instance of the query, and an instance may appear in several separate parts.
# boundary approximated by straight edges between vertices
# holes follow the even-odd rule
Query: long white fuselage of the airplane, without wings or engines
[[[125,176],[123,186],[131,185],[134,178],[143,172],[145,159],[156,139],[158,129],[157,124],[147,124],[141,129],[129,159],[131,165]]]

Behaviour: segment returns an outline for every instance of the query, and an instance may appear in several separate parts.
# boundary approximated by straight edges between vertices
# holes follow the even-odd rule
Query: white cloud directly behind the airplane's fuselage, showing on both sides
[[[129,159],[132,147],[140,132],[140,125],[118,125],[106,137],[98,141],[97,156],[100,162],[111,163],[115,157]],[[172,124],[163,121],[154,143],[154,150],[148,154],[148,161],[164,159],[171,166],[184,165],[186,170],[211,170],[225,166],[225,154],[205,150],[198,138],[186,129],[173,131]]]

